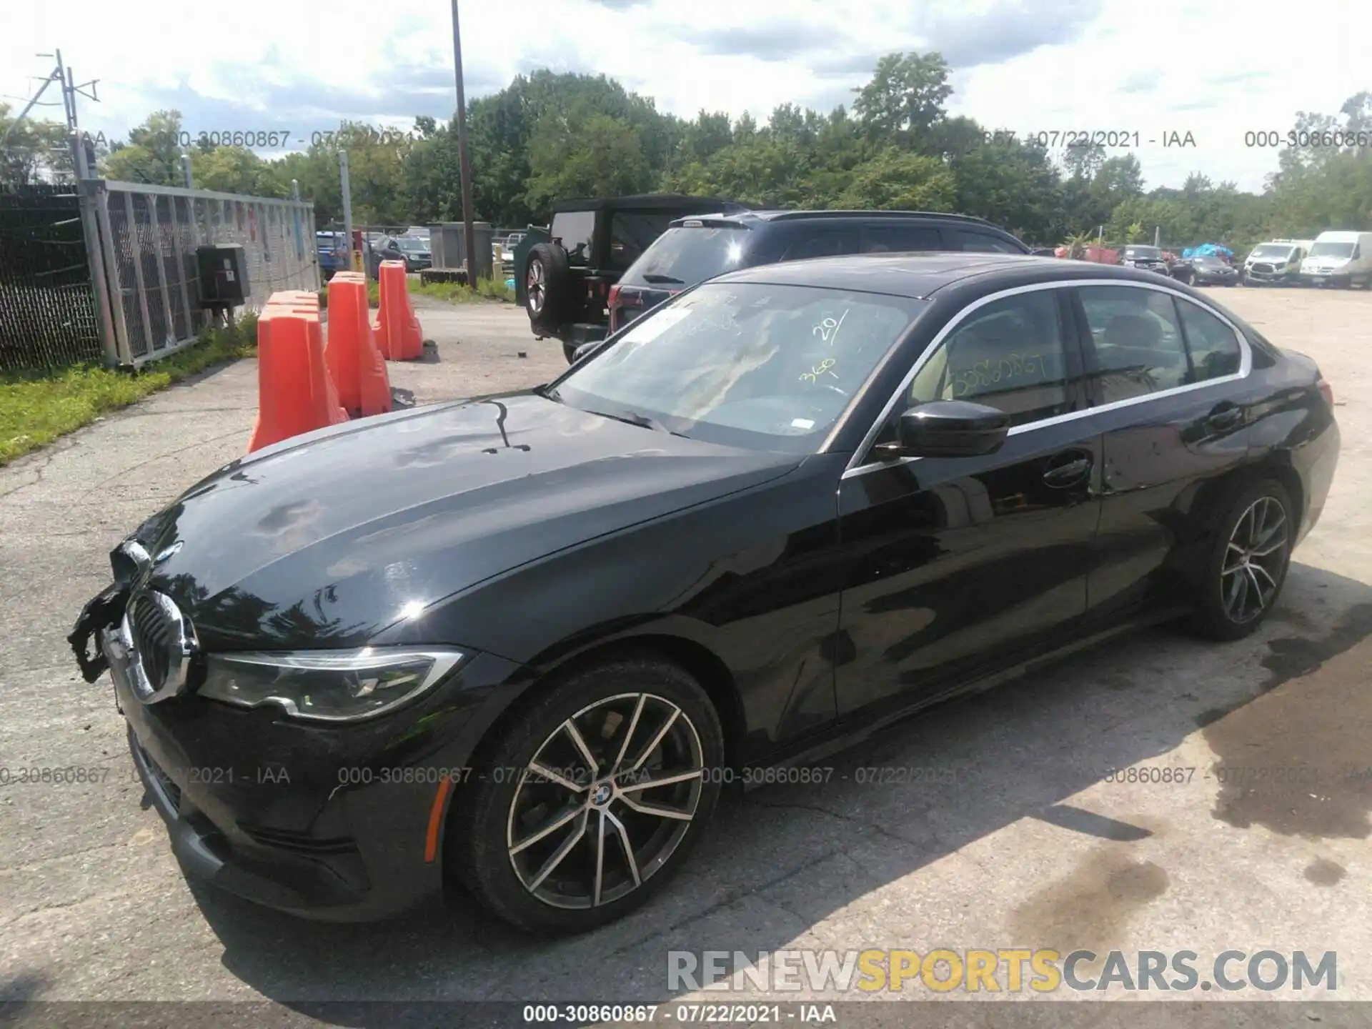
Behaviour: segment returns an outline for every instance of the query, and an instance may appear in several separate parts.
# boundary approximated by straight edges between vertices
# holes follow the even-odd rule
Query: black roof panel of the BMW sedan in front
[[[1121,265],[1099,265],[1088,261],[1066,261],[1029,254],[926,251],[916,254],[851,254],[756,265],[718,276],[709,283],[818,285],[830,289],[929,299],[944,287],[982,277],[996,277],[1004,285],[1073,279],[1159,281],[1154,272]]]

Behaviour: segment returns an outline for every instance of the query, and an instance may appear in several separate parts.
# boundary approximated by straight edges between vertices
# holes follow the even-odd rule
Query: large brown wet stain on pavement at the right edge
[[[1214,816],[1281,836],[1372,836],[1372,604],[1324,639],[1273,639],[1259,696],[1203,735]]]

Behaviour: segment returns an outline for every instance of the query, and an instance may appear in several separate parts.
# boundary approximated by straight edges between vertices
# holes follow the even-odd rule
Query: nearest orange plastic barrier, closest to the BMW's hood
[[[324,362],[318,298],[272,294],[258,316],[258,416],[248,453],[344,421]]]

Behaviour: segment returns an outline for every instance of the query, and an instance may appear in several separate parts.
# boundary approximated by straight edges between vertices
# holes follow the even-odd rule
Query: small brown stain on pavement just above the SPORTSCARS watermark
[[[1102,848],[1017,907],[1007,938],[1017,947],[1050,947],[1065,955],[1093,951],[1104,960],[1128,938],[1129,918],[1166,889],[1168,873],[1161,866]]]

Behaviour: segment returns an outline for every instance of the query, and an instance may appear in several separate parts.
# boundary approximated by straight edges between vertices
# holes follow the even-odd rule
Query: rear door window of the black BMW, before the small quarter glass
[[[1084,285],[1081,307],[1095,348],[1096,403],[1114,403],[1190,381],[1172,294],[1131,285]]]

